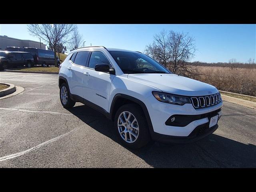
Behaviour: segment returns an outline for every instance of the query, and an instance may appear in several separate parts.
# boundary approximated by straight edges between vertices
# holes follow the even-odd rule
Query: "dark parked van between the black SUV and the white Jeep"
[[[55,64],[53,51],[29,47],[25,47],[24,51],[30,52],[33,55],[35,65],[42,65],[45,67]],[[60,62],[58,60],[57,62],[59,65]]]

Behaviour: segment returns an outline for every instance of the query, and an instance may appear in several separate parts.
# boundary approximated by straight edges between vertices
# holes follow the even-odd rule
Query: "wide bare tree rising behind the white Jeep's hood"
[[[154,36],[152,44],[146,46],[145,53],[166,66],[174,74],[195,78],[197,67],[189,65],[194,57],[196,46],[188,33],[164,30]]]

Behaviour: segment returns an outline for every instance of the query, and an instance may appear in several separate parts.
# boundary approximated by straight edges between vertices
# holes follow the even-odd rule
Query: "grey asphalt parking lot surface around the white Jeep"
[[[251,168],[256,167],[256,110],[224,102],[219,128],[191,144],[122,146],[113,123],[59,100],[57,74],[0,72],[0,82],[25,88],[0,100],[0,167]]]

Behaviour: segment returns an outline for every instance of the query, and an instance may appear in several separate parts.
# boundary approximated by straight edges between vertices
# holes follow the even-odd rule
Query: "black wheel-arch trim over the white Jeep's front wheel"
[[[150,119],[150,115],[148,113],[148,108],[146,107],[146,105],[144,104],[144,102],[142,102],[141,100],[137,99],[137,98],[134,98],[132,96],[129,96],[129,95],[126,95],[126,94],[116,94],[112,100],[112,103],[111,103],[111,107],[110,107],[110,118],[113,120],[114,118],[114,106],[115,106],[115,103],[116,103],[116,100],[118,98],[124,98],[124,99],[127,99],[127,100],[131,100],[132,102],[138,104],[143,112],[144,112],[144,115],[146,117],[146,120],[148,122],[148,129],[149,129],[149,132],[150,132],[150,135],[152,136],[154,134],[154,129],[153,129],[153,126],[152,126],[152,122],[151,122],[151,119]]]

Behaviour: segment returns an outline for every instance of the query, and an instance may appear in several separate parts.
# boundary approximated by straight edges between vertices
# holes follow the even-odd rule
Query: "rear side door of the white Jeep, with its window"
[[[90,51],[80,51],[71,57],[68,68],[68,86],[70,93],[83,98],[85,84],[83,82],[84,68],[86,66]]]

